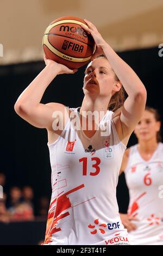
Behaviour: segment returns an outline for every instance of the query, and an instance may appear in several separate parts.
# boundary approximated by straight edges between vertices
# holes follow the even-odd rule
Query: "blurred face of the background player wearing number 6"
[[[134,133],[136,137],[143,141],[148,141],[156,137],[156,133],[160,130],[160,122],[156,121],[153,113],[145,111],[143,117],[136,125]]]

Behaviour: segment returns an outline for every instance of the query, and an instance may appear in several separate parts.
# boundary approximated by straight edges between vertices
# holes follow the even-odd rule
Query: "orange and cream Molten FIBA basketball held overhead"
[[[81,24],[87,26],[80,18],[64,16],[46,28],[42,44],[47,59],[70,69],[78,69],[89,62],[95,50],[95,42]]]

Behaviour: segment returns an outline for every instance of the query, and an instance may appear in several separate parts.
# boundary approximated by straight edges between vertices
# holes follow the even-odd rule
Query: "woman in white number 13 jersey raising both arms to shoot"
[[[52,198],[45,244],[126,245],[128,235],[118,214],[116,185],[128,139],[145,109],[146,89],[96,27],[86,22],[89,28],[82,27],[93,36],[96,54],[106,58],[95,58],[86,68],[82,107],[40,103],[55,76],[76,71],[45,58],[45,69],[18,97],[15,111],[48,131]],[[122,84],[128,97],[122,108],[109,111],[109,102],[114,103],[110,99],[118,97]],[[93,112],[96,117],[92,118]],[[53,123],[56,120],[58,126],[62,124],[59,130]]]

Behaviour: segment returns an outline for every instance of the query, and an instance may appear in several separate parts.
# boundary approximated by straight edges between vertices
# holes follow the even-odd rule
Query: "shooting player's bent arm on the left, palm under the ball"
[[[66,66],[53,62],[44,56],[46,67],[29,84],[18,97],[14,109],[21,118],[38,128],[52,130],[54,111],[65,113],[65,106],[61,103],[40,103],[46,88],[59,74],[72,74],[76,70],[70,70]]]

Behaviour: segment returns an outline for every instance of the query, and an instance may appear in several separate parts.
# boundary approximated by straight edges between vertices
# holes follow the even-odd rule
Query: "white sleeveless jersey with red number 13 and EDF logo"
[[[77,115],[78,108],[71,108]],[[116,200],[116,186],[126,147],[118,139],[111,111],[93,137],[65,129],[48,144],[52,168],[52,198],[45,245],[128,244]],[[103,125],[109,133],[102,136]]]

